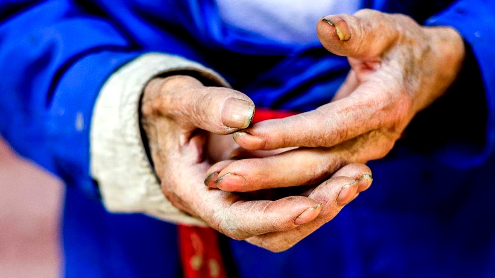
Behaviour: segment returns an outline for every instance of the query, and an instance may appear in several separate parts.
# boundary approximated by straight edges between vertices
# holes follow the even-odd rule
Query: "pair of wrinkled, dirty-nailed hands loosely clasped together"
[[[334,99],[313,111],[249,126],[254,105],[243,93],[189,76],[148,84],[142,123],[175,206],[232,238],[286,250],[371,185],[362,163],[392,149],[464,59],[455,30],[400,14],[328,16],[317,32],[325,48],[348,57],[351,70]],[[215,136],[232,133],[241,149]],[[232,151],[243,159],[228,159]]]

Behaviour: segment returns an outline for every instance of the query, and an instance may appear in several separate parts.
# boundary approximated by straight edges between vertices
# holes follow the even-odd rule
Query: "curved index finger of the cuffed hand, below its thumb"
[[[201,186],[198,182],[205,174],[202,169],[206,165],[202,162],[172,172],[176,186],[164,193],[169,199],[170,195],[176,195],[210,227],[232,238],[294,229],[312,221],[321,211],[318,202],[304,196],[246,201],[237,194]]]

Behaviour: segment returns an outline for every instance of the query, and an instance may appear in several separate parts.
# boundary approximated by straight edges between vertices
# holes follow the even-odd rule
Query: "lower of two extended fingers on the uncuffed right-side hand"
[[[388,137],[370,132],[331,148],[298,148],[265,158],[223,163],[215,169],[218,172],[215,186],[225,191],[243,192],[314,185],[327,179],[348,161],[364,163],[383,157],[393,145]],[[339,173],[341,170],[337,171]],[[350,174],[345,176],[353,177]],[[360,191],[365,189],[363,186],[359,185]]]

